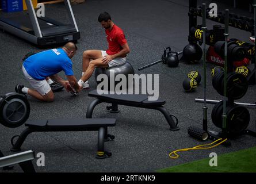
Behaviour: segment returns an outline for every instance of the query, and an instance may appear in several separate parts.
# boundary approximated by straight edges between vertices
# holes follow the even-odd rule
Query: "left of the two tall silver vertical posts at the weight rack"
[[[206,4],[202,4],[202,41],[203,41],[203,50],[202,50],[202,60],[203,60],[203,68],[204,68],[204,79],[203,79],[203,86],[204,86],[204,106],[202,106],[203,110],[203,120],[202,120],[202,128],[204,131],[207,131],[207,106],[206,106],[206,38],[205,33],[207,30],[206,26]]]

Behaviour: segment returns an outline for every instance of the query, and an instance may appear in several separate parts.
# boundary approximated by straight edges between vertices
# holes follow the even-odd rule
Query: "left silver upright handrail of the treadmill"
[[[25,0],[26,6],[28,7],[28,13],[30,17],[30,21],[32,22],[33,30],[35,33],[35,36],[37,37],[43,37],[41,33],[41,29],[37,20],[36,12],[33,7],[32,0]]]

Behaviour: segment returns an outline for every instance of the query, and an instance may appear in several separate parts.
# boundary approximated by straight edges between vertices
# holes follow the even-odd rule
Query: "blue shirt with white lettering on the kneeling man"
[[[72,62],[62,48],[36,53],[28,57],[23,66],[32,78],[39,81],[62,70],[66,75],[74,75]]]

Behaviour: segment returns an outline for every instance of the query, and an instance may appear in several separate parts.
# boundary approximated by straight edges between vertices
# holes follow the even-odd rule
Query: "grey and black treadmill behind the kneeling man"
[[[80,39],[70,0],[64,0],[70,19],[68,24],[47,17],[37,17],[32,0],[25,0],[25,2],[28,7],[28,13],[24,15],[25,17],[0,17],[0,29],[38,46],[61,44]]]

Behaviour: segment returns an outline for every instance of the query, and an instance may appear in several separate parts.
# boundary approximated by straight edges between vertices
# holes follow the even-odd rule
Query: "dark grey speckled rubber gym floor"
[[[88,0],[82,5],[73,5],[73,11],[81,32],[78,41],[78,52],[72,59],[77,78],[81,76],[82,53],[86,49],[106,49],[107,42],[104,29],[97,21],[98,14],[108,11],[113,22],[120,26],[126,34],[131,53],[127,61],[132,64],[137,74],[159,74],[159,94],[166,99],[165,107],[171,114],[178,117],[179,131],[169,130],[165,118],[156,110],[119,106],[120,113],[111,114],[106,104],[98,105],[93,117],[116,118],[116,127],[109,128],[109,133],[116,136],[114,141],[105,143],[105,148],[112,152],[108,159],[96,159],[97,132],[37,132],[28,136],[22,145],[22,151],[35,150],[45,154],[45,167],[35,168],[37,172],[154,172],[161,168],[177,166],[194,160],[209,158],[211,152],[226,154],[256,146],[256,138],[243,135],[231,140],[231,147],[219,147],[212,150],[182,152],[180,158],[171,159],[171,151],[193,147],[202,142],[189,137],[187,128],[190,125],[202,125],[202,104],[194,102],[195,98],[203,97],[202,85],[193,93],[185,93],[182,81],[189,71],[197,70],[202,75],[202,62],[198,64],[179,63],[177,68],[169,68],[156,64],[138,71],[137,68],[161,59],[163,49],[171,46],[181,51],[188,44],[189,19],[187,0]],[[209,3],[211,1],[203,1]],[[202,1],[198,1],[198,6]],[[247,10],[233,9],[217,2],[219,9],[229,8],[235,13],[253,17]],[[46,5],[47,16],[65,21],[62,13],[63,5]],[[201,24],[201,18],[198,18]],[[207,21],[208,28],[216,22]],[[230,28],[230,38],[249,41],[249,32]],[[37,52],[30,43],[17,37],[0,32],[0,94],[14,91],[16,84],[29,86],[22,74],[22,57],[28,52]],[[222,99],[211,83],[212,64],[207,63],[207,98]],[[61,76],[64,76],[63,73]],[[94,76],[89,79],[90,90],[96,88]],[[71,97],[66,91],[55,93],[55,101],[41,103],[28,97],[31,111],[29,120],[47,118],[85,118],[87,105],[94,98],[88,97],[90,90],[83,90],[77,97]],[[247,94],[239,102],[254,103],[256,85],[249,87]],[[208,104],[209,129],[220,131],[211,122],[211,111],[214,105]],[[250,111],[249,129],[255,130],[255,108]],[[24,130],[24,125],[10,129],[0,125],[1,151],[5,155],[9,151],[10,139]],[[211,141],[207,141],[211,143]],[[234,167],[239,167],[234,166]],[[20,172],[14,167],[9,172]],[[2,170],[0,171],[2,172]],[[5,171],[6,172],[6,171]]]

